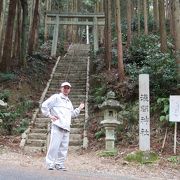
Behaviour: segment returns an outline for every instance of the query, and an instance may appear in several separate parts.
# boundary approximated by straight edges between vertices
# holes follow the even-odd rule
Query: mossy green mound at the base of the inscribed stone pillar
[[[156,160],[158,160],[158,155],[154,152],[137,151],[128,154],[124,159],[129,162],[147,164],[147,163],[153,163]]]

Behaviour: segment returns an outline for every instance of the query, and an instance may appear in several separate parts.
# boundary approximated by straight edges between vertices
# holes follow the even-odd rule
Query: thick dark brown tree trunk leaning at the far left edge
[[[8,20],[6,26],[6,35],[3,47],[2,61],[0,63],[0,71],[8,72],[11,68],[11,52],[12,52],[12,38],[14,30],[14,20],[16,15],[17,0],[10,0]]]

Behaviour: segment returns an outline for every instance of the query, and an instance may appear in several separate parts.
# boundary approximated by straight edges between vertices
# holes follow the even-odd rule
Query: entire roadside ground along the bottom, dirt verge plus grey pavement
[[[122,150],[123,151],[123,150]],[[0,151],[0,180],[66,179],[66,180],[179,180],[179,166],[161,160],[156,164],[127,163],[119,158],[99,157],[99,151],[70,152],[67,172],[48,171],[45,154],[24,154],[22,151]]]

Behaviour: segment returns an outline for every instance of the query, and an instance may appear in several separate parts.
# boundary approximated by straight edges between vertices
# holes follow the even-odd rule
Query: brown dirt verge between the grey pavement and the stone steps
[[[0,141],[0,165],[9,164],[24,168],[45,169],[45,154],[30,154],[23,152],[19,146],[20,137],[4,137],[6,145]],[[165,157],[160,157],[154,164],[140,165],[129,163],[123,159],[124,155],[132,149],[119,149],[115,157],[100,157],[101,150],[81,150],[69,152],[66,167],[70,172],[103,173],[133,177],[137,179],[179,180],[180,164],[168,162]]]

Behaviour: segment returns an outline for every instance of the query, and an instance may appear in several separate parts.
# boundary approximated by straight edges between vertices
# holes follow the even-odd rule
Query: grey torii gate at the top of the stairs
[[[86,26],[86,43],[87,44],[89,44],[89,26],[93,26],[94,51],[96,52],[99,49],[98,26],[105,25],[104,13],[77,14],[77,13],[47,12],[46,18],[50,19],[50,20],[47,20],[47,24],[54,25],[51,56],[56,56],[59,25],[84,25]],[[55,20],[51,20],[51,18],[55,18]],[[64,21],[64,20],[60,20],[60,18],[81,18],[84,21],[78,21],[78,20],[77,21]],[[47,32],[47,24],[45,26],[45,32]]]

